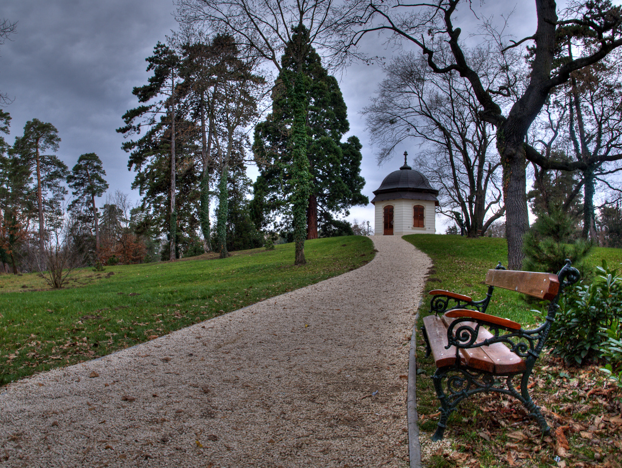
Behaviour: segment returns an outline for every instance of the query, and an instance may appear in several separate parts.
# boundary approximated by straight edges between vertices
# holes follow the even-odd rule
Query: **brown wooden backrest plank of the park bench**
[[[486,284],[511,289],[547,301],[552,301],[559,291],[557,274],[534,273],[533,271],[489,269],[486,273]]]

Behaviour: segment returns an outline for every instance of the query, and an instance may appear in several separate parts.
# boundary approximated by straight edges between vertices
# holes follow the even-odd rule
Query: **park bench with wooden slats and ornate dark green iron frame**
[[[491,391],[514,396],[536,419],[542,433],[550,433],[540,408],[529,396],[529,377],[555,320],[557,302],[564,288],[576,283],[579,276],[570,260],[557,274],[511,271],[499,263],[486,274],[488,293],[481,301],[450,291],[430,291],[434,296],[430,312],[434,314],[424,317],[422,332],[426,357],[431,353],[436,363],[432,380],[441,405],[433,441],[443,438],[447,419],[460,401]],[[524,330],[518,322],[487,314],[494,287],[549,301],[544,323]]]

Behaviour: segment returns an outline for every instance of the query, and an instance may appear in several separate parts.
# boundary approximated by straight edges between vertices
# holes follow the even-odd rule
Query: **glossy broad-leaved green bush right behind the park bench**
[[[567,364],[582,365],[601,356],[608,342],[603,329],[622,319],[622,278],[606,261],[592,284],[575,286],[560,299],[547,347]]]

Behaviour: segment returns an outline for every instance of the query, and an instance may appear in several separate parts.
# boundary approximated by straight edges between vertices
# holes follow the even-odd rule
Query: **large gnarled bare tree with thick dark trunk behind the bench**
[[[390,39],[406,41],[419,48],[434,73],[457,72],[465,78],[470,90],[480,105],[480,117],[497,129],[496,145],[503,166],[503,196],[506,206],[506,235],[508,238],[509,268],[519,269],[522,265],[522,236],[529,227],[526,200],[526,159],[547,169],[565,169],[567,164],[547,161],[534,147],[526,144],[527,132],[536,116],[542,110],[555,87],[564,84],[575,70],[587,67],[606,57],[622,45],[622,16],[619,6],[612,6],[608,0],[595,0],[585,4],[575,3],[569,7],[566,19],[557,16],[555,0],[536,0],[537,29],[533,35],[518,41],[504,42],[501,34],[493,36],[498,45],[498,54],[531,44],[532,57],[529,65],[529,82],[519,96],[511,96],[511,83],[493,83],[487,86],[490,77],[482,76],[471,67],[466,49],[460,42],[462,29],[454,26],[458,7],[461,14],[471,9],[476,17],[476,6],[468,0],[439,0],[438,2],[402,3],[401,0],[351,0],[349,9],[358,7],[358,14],[350,18],[348,46],[358,44],[364,34],[373,31],[387,31]],[[490,29],[490,22],[484,24]],[[591,34],[595,47],[589,54],[568,60],[554,68],[557,29],[573,26],[581,34]],[[452,51],[451,60],[444,61],[437,55],[434,40],[443,37]],[[347,46],[346,46],[347,47]],[[499,60],[502,63],[502,60]],[[503,74],[503,68],[498,70]],[[511,98],[511,105],[504,107],[499,99]]]

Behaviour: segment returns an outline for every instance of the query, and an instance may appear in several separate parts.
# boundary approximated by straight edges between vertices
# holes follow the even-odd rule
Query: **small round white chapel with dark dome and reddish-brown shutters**
[[[371,203],[376,207],[374,235],[403,236],[436,232],[435,207],[439,206],[439,190],[419,171],[410,167],[404,151],[404,166],[384,177],[374,190]]]

